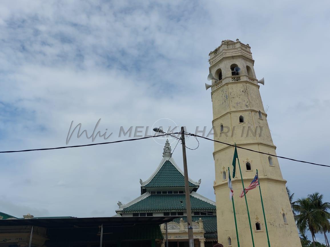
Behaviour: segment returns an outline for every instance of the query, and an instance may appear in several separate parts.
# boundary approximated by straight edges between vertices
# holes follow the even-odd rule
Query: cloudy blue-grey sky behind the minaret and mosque
[[[72,121],[90,135],[101,119],[97,131],[113,133],[107,141],[128,139],[120,126],[143,126],[143,134],[169,120],[189,132],[210,128],[208,54],[238,38],[265,78],[260,94],[277,154],[330,165],[329,11],[328,1],[1,1],[0,150],[105,141],[73,135],[67,144]],[[215,200],[213,143],[199,141],[187,151],[189,177]],[[0,211],[112,216],[118,201],[139,196],[161,142],[1,153]],[[329,168],[279,161],[295,199],[318,191],[330,201]]]

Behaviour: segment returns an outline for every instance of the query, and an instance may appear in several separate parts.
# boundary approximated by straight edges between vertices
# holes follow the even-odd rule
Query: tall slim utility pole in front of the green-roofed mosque
[[[182,142],[182,155],[183,155],[184,190],[185,190],[185,195],[186,195],[186,206],[187,206],[188,240],[189,240],[189,247],[194,247],[194,233],[192,231],[187,156],[186,156],[186,152],[185,152],[184,128],[183,127],[181,127],[181,142]]]

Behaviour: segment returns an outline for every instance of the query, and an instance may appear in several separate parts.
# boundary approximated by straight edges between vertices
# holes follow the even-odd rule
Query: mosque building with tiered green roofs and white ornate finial
[[[215,202],[196,191],[198,182],[189,178],[190,202],[194,243],[198,247],[211,247],[217,243]],[[140,179],[141,196],[127,204],[118,202],[117,216],[178,216],[167,224],[169,247],[188,246],[184,176],[182,170],[171,157],[171,147],[166,140],[163,159],[156,171],[146,181]],[[164,239],[157,246],[165,246],[166,229],[160,225]]]

